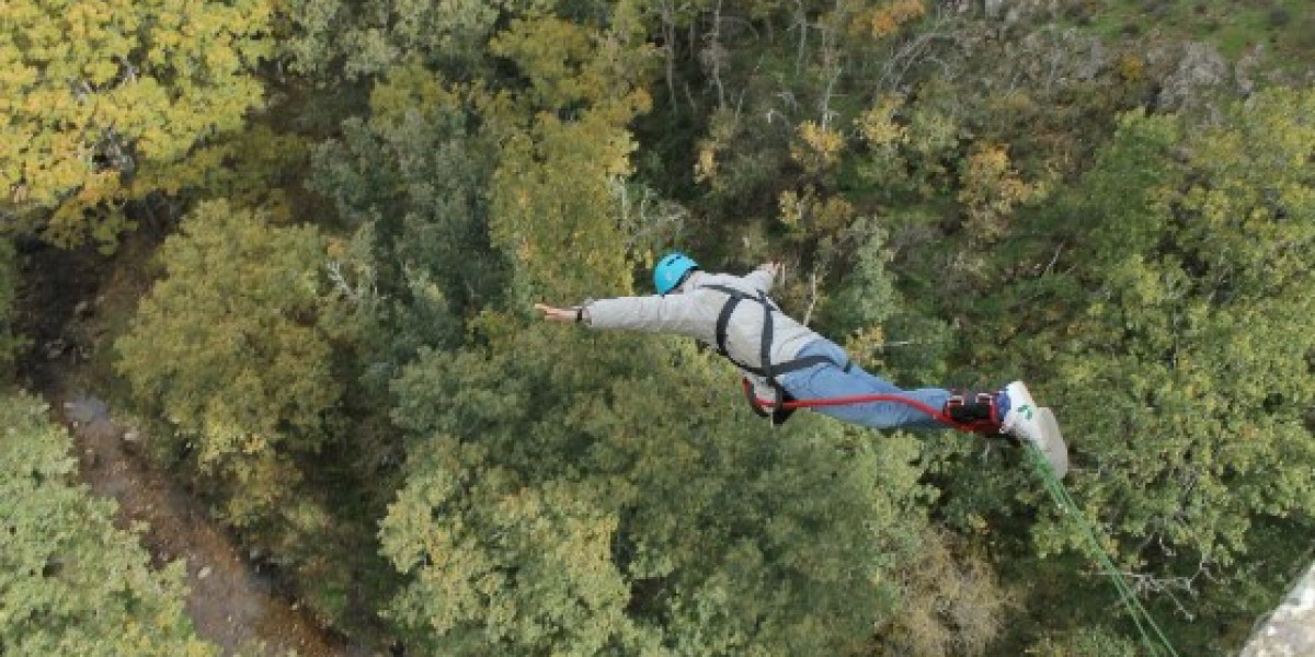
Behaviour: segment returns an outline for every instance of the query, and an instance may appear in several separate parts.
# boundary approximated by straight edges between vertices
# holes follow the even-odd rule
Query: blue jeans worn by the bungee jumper
[[[819,399],[828,397],[849,397],[855,394],[898,394],[917,399],[938,411],[949,399],[949,390],[922,388],[901,390],[885,378],[869,374],[857,364],[851,364],[846,372],[842,365],[849,357],[836,343],[819,339],[800,350],[796,357],[826,356],[835,363],[823,363],[777,377],[777,382],[796,399]],[[931,415],[898,402],[865,402],[847,406],[818,406],[813,409],[839,420],[852,422],[873,428],[947,428]]]

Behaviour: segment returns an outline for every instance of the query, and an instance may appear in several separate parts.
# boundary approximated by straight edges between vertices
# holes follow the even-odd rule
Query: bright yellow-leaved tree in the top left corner
[[[113,244],[122,204],[262,102],[270,4],[22,0],[0,22],[0,209]]]

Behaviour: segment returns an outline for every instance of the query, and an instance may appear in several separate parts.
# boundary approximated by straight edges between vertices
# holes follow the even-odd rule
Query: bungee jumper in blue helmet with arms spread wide
[[[1068,449],[1053,414],[1036,406],[1022,381],[994,393],[903,390],[868,373],[836,343],[782,313],[767,296],[778,272],[778,263],[765,263],[747,276],[709,273],[688,255],[672,252],[654,267],[655,296],[534,307],[552,322],[698,339],[740,369],[755,413],[775,423],[785,422],[793,407],[806,405],[873,428],[955,427],[1009,434],[1040,448],[1057,476],[1068,470]],[[855,397],[880,401],[847,401]],[[826,403],[828,399],[840,403]]]

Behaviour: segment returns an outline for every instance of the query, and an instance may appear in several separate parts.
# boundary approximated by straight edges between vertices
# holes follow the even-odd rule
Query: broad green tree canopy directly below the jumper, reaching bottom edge
[[[910,442],[819,418],[764,434],[692,346],[497,322],[396,386],[423,439],[381,539],[416,641],[857,654],[893,614],[920,527]]]

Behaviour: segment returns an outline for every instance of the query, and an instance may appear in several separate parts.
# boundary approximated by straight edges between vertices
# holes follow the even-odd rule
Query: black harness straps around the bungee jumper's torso
[[[790,414],[794,413],[794,407],[788,407],[786,406],[786,402],[794,401],[794,398],[790,397],[790,393],[786,392],[785,388],[782,388],[781,384],[776,380],[777,376],[788,374],[790,372],[798,372],[800,369],[806,369],[806,368],[810,368],[813,365],[821,365],[823,363],[830,363],[830,364],[834,364],[836,367],[840,367],[846,372],[849,371],[849,363],[848,361],[846,361],[846,363],[835,363],[834,360],[831,360],[831,359],[828,359],[826,356],[821,356],[821,355],[805,356],[802,359],[794,359],[794,360],[789,360],[789,361],[785,361],[785,363],[776,363],[776,364],[773,364],[772,363],[772,338],[773,338],[773,335],[772,335],[772,330],[773,330],[772,328],[772,319],[773,319],[773,315],[776,313],[781,311],[781,309],[777,307],[776,304],[772,302],[772,300],[767,298],[767,293],[763,292],[763,290],[757,290],[757,294],[755,296],[755,294],[748,294],[746,292],[738,290],[738,289],[727,286],[727,285],[717,285],[717,284],[700,285],[700,289],[710,289],[710,290],[721,292],[722,294],[726,294],[729,297],[726,300],[726,304],[722,305],[721,313],[717,315],[717,330],[715,330],[717,331],[715,332],[715,335],[717,335],[717,344],[715,344],[717,352],[721,353],[726,360],[730,360],[732,364],[735,364],[735,367],[743,369],[744,372],[748,372],[748,373],[755,374],[755,376],[760,376],[764,380],[767,380],[767,384],[772,388],[772,390],[773,390],[773,393],[776,396],[776,399],[772,401],[771,406],[768,409],[764,409],[763,405],[760,405],[757,397],[753,394],[753,386],[750,385],[748,380],[746,378],[744,380],[744,396],[748,399],[748,403],[753,409],[753,413],[756,415],[763,417],[763,418],[772,418],[772,423],[773,424],[780,424],[780,423],[785,422],[786,419],[789,419]],[[760,351],[759,351],[760,363],[761,363],[760,367],[753,367],[753,365],[750,365],[747,363],[740,363],[739,360],[735,360],[731,356],[730,351],[727,351],[727,348],[726,348],[726,328],[731,323],[731,314],[735,313],[735,309],[743,301],[748,301],[751,304],[757,304],[757,305],[763,306],[763,335],[761,335]]]

